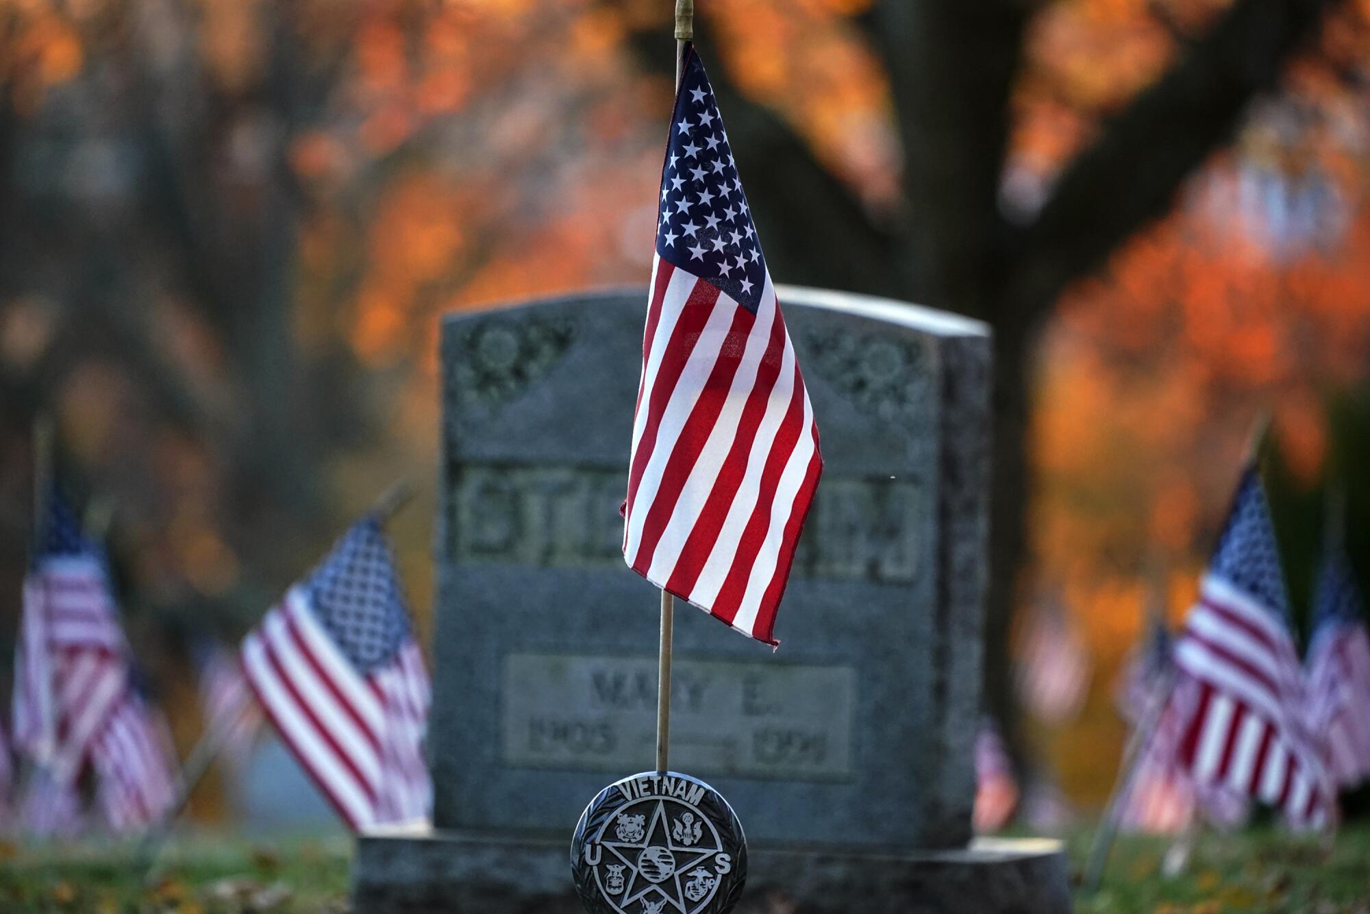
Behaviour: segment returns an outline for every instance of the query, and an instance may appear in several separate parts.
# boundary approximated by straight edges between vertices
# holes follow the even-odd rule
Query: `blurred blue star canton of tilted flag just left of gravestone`
[[[306,589],[315,617],[362,676],[386,663],[410,637],[395,555],[374,517],[338,540]]]

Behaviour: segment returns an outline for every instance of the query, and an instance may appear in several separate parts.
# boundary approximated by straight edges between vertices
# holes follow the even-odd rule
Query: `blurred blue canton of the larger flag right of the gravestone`
[[[1247,467],[1228,526],[1218,540],[1208,570],[1247,593],[1266,610],[1289,619],[1289,597],[1270,504],[1255,465]]]

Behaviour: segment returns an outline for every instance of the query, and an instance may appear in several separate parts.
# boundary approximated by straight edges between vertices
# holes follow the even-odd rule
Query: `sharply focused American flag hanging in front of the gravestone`
[[[767,644],[822,470],[818,426],[693,47],[662,169],[623,558]]]

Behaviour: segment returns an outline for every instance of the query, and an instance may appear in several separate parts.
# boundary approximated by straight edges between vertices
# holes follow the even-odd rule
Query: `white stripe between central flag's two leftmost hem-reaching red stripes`
[[[743,410],[747,407],[747,402],[756,388],[756,374],[760,371],[762,359],[766,356],[766,349],[770,345],[771,328],[774,326],[777,312],[775,291],[767,282],[766,289],[762,292],[760,307],[756,310],[756,322],[747,340],[747,349],[737,365],[733,384],[727,389],[723,408],[719,411],[714,428],[710,429],[708,440],[704,441],[699,460],[695,462],[689,477],[685,480],[685,488],[681,489],[680,499],[675,502],[675,510],[671,512],[666,530],[656,544],[656,552],[652,555],[652,565],[647,574],[648,580],[666,581],[670,578],[675,570],[675,563],[680,560],[681,549],[685,548],[685,541],[695,530],[699,515],[704,510],[704,503],[714,491],[714,484],[718,481],[723,460],[727,458],[729,449],[732,449],[733,441],[737,439],[737,426]]]

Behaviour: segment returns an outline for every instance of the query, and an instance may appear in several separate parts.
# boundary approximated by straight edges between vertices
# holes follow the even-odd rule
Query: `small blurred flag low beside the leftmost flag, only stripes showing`
[[[116,835],[160,822],[177,789],[175,754],[166,718],[130,685],[90,747],[96,802]]]

